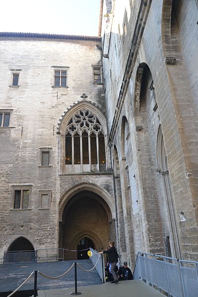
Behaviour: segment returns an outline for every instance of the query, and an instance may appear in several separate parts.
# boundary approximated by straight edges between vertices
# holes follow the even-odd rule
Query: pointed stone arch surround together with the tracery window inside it
[[[83,100],[71,107],[59,125],[61,172],[101,172],[110,168],[104,115]]]

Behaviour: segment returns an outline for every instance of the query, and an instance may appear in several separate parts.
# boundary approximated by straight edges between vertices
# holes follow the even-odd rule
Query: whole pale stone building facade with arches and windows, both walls
[[[101,38],[0,34],[1,262],[198,257],[198,2],[100,4]]]

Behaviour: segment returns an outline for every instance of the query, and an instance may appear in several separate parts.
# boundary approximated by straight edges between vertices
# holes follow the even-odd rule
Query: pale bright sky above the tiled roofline
[[[100,0],[2,0],[0,32],[98,36]]]

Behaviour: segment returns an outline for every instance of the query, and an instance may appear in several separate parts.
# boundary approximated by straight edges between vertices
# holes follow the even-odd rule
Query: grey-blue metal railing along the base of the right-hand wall
[[[139,252],[134,279],[172,297],[198,296],[198,262]]]

